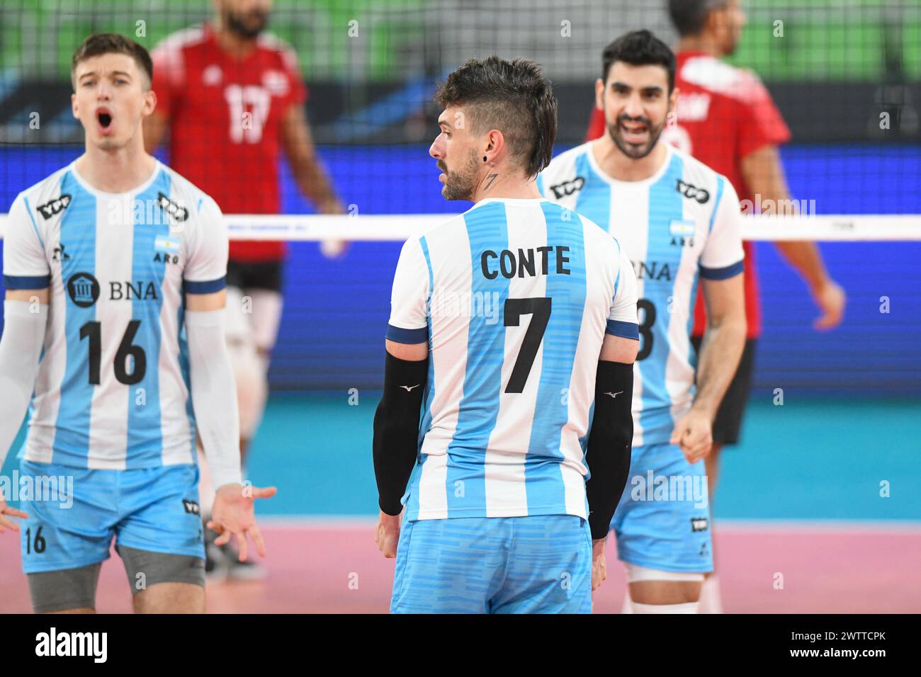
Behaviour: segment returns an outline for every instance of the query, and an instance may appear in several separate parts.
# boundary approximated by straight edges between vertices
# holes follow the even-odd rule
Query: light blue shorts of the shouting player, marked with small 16
[[[204,558],[195,465],[88,470],[21,461],[19,475],[20,493],[23,481],[56,487],[20,499],[29,514],[19,524],[24,573],[102,562],[113,537],[138,550]]]

